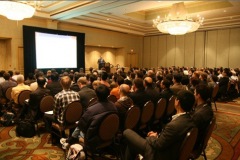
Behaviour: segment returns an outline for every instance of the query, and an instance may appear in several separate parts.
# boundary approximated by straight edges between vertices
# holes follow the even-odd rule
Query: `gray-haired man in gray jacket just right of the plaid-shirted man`
[[[90,99],[96,97],[95,91],[87,87],[87,82],[88,81],[86,77],[81,77],[77,81],[78,86],[80,88],[80,91],[78,92],[78,94],[80,96],[80,102],[83,107],[83,113],[87,109],[88,102],[90,101]]]

